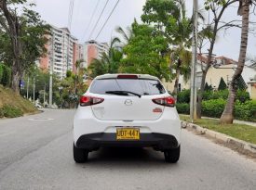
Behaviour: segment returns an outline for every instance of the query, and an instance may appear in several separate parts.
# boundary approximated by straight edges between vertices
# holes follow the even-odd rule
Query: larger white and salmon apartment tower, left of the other
[[[53,73],[63,79],[67,70],[75,72],[75,61],[83,59],[83,45],[78,44],[67,28],[51,26],[51,35],[47,37],[47,56],[39,59],[39,67],[50,70],[52,66]]]

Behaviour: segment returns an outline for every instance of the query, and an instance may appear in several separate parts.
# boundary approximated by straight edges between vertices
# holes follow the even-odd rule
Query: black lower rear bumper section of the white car
[[[165,150],[176,148],[179,143],[173,135],[163,133],[141,133],[140,140],[116,140],[116,133],[90,133],[80,136],[75,146],[88,150],[111,146],[154,147]]]

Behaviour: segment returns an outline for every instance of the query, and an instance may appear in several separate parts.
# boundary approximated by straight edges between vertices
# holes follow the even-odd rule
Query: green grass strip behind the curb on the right
[[[190,122],[189,116],[180,115],[181,120]],[[237,139],[256,144],[256,127],[245,124],[220,124],[219,120],[200,119],[195,124],[209,130],[224,133]]]

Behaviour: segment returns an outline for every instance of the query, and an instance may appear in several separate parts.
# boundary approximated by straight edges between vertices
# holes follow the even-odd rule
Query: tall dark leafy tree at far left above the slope
[[[46,52],[47,43],[44,36],[48,26],[38,13],[23,6],[25,3],[27,0],[0,0],[0,25],[3,27],[1,32],[5,33],[4,40],[11,44],[6,46],[4,56],[11,57],[11,87],[16,93],[20,92],[23,71]],[[18,6],[23,6],[21,14]],[[1,37],[0,41],[2,40]]]

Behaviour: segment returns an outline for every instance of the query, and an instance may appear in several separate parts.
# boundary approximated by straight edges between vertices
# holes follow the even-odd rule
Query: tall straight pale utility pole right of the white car
[[[198,30],[198,0],[194,0],[193,6],[194,25],[193,25],[193,45],[192,45],[192,67],[191,67],[191,94],[190,94],[190,119],[196,119],[196,63],[197,63],[197,30]]]

